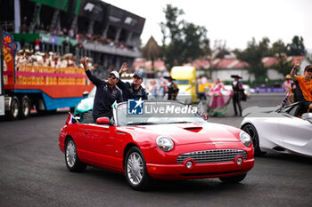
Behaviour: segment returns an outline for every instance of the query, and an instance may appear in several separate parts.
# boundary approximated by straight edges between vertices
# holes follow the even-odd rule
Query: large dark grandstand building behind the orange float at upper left
[[[100,0],[10,0],[0,11],[1,27],[24,50],[87,56],[105,70],[141,56],[145,19]]]

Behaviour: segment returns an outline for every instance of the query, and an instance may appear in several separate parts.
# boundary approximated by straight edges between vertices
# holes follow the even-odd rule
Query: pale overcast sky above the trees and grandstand
[[[256,38],[267,36],[271,44],[282,39],[291,43],[302,36],[312,50],[312,1],[310,0],[103,0],[145,19],[142,43],[153,36],[161,44],[160,22],[165,21],[163,8],[172,4],[183,9],[181,18],[204,26],[211,42],[226,41],[229,49],[245,49]]]

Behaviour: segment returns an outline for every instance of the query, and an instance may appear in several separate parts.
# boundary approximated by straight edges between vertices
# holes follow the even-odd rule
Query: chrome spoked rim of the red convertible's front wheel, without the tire
[[[134,185],[139,184],[143,179],[143,160],[136,152],[131,153],[127,158],[127,177]]]

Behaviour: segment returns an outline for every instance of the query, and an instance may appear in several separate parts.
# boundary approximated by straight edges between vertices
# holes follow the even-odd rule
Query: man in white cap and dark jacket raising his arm
[[[86,63],[86,57],[80,60],[80,63],[85,68],[86,76],[96,86],[96,92],[94,97],[93,118],[109,117],[112,116],[112,105],[115,101],[122,102],[122,93],[116,86],[119,81],[119,73],[117,71],[111,71],[110,77],[107,82],[93,76]]]

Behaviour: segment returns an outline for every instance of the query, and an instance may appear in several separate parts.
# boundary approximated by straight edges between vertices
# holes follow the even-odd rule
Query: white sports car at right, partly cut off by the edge
[[[240,128],[250,134],[255,155],[275,151],[312,157],[312,113],[298,116],[299,111],[299,102],[243,110]]]

